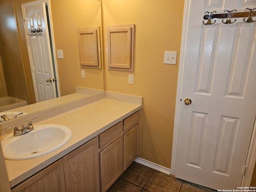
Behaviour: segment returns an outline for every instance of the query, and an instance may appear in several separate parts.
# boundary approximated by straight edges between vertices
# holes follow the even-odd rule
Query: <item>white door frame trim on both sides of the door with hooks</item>
[[[192,0],[185,0],[184,15],[183,15],[182,40],[181,40],[181,48],[180,48],[180,62],[179,62],[176,106],[175,106],[175,116],[174,116],[174,132],[173,132],[173,142],[172,142],[172,160],[171,160],[171,170],[170,170],[170,174],[173,176],[175,176],[175,171],[176,171],[180,109],[181,109],[181,105],[183,104],[181,99],[182,99],[182,87],[184,83],[183,79],[184,79],[184,69],[185,69],[185,60],[186,60],[186,49],[188,44],[188,27],[189,27],[191,3],[192,3]],[[244,186],[244,187],[250,186],[255,164],[256,164],[256,123],[254,122],[252,138],[251,138],[247,159],[246,159],[246,164],[245,164],[246,172],[242,178],[241,186]]]

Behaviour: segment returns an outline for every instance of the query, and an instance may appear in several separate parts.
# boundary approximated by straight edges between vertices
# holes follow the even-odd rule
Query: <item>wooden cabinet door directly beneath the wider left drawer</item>
[[[101,190],[105,192],[123,171],[122,136],[100,152]]]

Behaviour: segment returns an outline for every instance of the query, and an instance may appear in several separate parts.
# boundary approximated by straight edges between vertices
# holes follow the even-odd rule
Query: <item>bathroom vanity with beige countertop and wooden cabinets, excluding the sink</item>
[[[60,110],[67,105],[80,107]],[[38,125],[67,126],[72,130],[68,143],[38,158],[5,160],[12,191],[105,192],[138,157],[142,97],[103,92],[67,105],[46,110],[60,115]]]

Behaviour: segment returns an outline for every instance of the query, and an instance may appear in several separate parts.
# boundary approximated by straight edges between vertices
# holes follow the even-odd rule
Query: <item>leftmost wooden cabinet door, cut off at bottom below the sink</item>
[[[65,192],[62,159],[12,188],[12,192]]]

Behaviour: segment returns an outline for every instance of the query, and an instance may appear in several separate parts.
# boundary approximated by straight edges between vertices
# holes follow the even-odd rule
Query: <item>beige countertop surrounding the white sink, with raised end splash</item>
[[[89,102],[66,113],[60,112],[59,116],[37,124],[34,121],[34,125],[60,124],[66,126],[72,131],[72,137],[64,146],[44,156],[28,160],[5,160],[11,187],[62,158],[141,108],[142,97],[106,92],[105,98]],[[58,111],[56,112],[58,113]],[[37,117],[40,119],[40,116]]]

